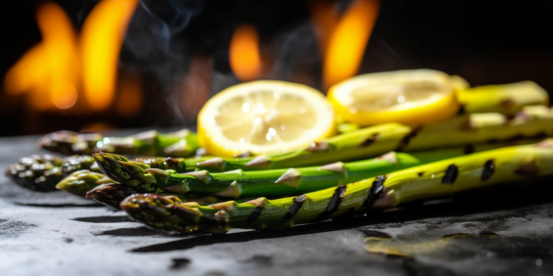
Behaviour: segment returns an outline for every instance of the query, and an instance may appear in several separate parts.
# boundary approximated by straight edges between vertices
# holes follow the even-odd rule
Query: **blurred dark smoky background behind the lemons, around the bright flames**
[[[8,95],[2,88],[0,136],[194,124],[210,95],[240,82],[229,66],[229,43],[243,23],[259,32],[261,78],[323,90],[321,55],[311,26],[312,7],[322,2],[338,10],[350,3],[141,1],[118,61],[119,75],[139,83],[140,101],[114,101],[95,112],[78,105],[39,111],[28,104],[28,94]],[[41,3],[0,2],[0,76],[41,41],[35,19]],[[79,30],[97,1],[55,3]],[[432,68],[465,77],[472,86],[532,80],[550,92],[552,26],[552,1],[384,0],[359,74]],[[128,102],[140,108],[122,115],[117,108]]]

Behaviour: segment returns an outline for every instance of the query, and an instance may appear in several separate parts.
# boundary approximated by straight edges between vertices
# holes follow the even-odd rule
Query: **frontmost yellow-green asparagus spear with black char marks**
[[[127,197],[120,206],[152,228],[226,233],[229,228],[292,227],[552,174],[553,140],[546,139],[539,144],[444,159],[297,197],[260,197],[245,203],[227,201],[202,206],[163,195],[141,194]]]

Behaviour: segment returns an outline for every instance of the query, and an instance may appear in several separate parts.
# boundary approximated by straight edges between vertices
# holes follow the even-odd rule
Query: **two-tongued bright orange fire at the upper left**
[[[138,0],[100,1],[78,37],[66,12],[56,3],[44,3],[37,11],[42,41],[10,68],[6,92],[28,92],[30,106],[40,111],[71,108],[84,90],[86,105],[107,108],[114,98],[124,34],[137,5]]]

